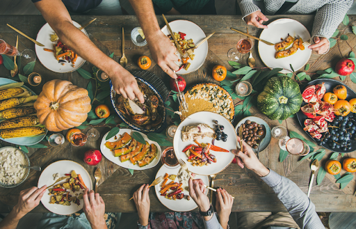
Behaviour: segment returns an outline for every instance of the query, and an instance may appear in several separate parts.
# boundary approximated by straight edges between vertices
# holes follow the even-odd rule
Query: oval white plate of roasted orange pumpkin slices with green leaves
[[[118,134],[106,140],[108,133],[102,139],[100,150],[108,160],[118,166],[144,170],[159,163],[161,147],[156,141],[149,140],[146,134],[133,129],[120,129]],[[145,144],[140,141],[145,141]]]

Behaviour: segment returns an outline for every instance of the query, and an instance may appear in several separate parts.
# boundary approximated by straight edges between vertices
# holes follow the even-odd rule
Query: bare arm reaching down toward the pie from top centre
[[[159,28],[152,1],[146,0],[129,0],[132,8],[140,22],[140,26],[145,33],[145,37],[151,51],[154,61],[162,68],[162,70],[172,78],[177,78],[173,70],[178,71],[179,67],[174,61],[179,58],[175,54],[177,51],[173,42],[164,35]],[[177,31],[178,32],[178,31]]]

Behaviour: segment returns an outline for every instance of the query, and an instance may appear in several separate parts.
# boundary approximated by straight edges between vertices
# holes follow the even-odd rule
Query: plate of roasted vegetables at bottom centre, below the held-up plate
[[[154,186],[156,196],[159,201],[174,212],[189,212],[197,208],[197,204],[189,196],[188,180],[186,171],[179,168],[167,168],[161,166],[156,177],[163,177],[163,180]],[[209,186],[209,178],[206,175],[195,175],[195,179],[202,179],[204,184]]]

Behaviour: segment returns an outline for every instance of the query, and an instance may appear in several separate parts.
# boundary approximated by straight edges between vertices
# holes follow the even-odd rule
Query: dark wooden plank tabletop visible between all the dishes
[[[302,24],[304,24],[309,31],[312,31],[312,22],[314,15],[288,15],[287,17],[297,19]],[[92,17],[89,16],[73,16],[72,17],[79,24],[85,24]],[[188,19],[192,22],[198,24],[206,34],[216,31],[216,34],[209,40],[209,54],[207,56],[207,61],[204,63],[200,70],[184,76],[188,82],[188,86],[195,84],[197,82],[204,81],[214,81],[211,78],[211,68],[216,64],[223,64],[228,69],[231,67],[227,64],[227,51],[236,47],[236,43],[239,39],[243,37],[238,33],[232,32],[229,28],[234,27],[241,31],[246,31],[246,25],[240,16],[168,16],[168,21],[174,19]],[[280,16],[269,17],[270,21],[273,19],[280,18]],[[164,22],[162,17],[159,16],[159,25],[163,26]],[[356,16],[350,16],[350,22],[356,19]],[[6,40],[11,45],[15,45],[15,36],[17,33],[6,26],[6,23],[15,26],[20,31],[26,33],[32,38],[36,38],[36,35],[40,28],[46,23],[42,16],[0,16],[0,38]],[[6,22],[6,23],[5,23]],[[133,16],[98,16],[97,20],[93,22],[90,26],[86,28],[90,39],[92,39],[95,44],[102,49],[106,54],[115,53],[115,60],[118,61],[122,54],[121,52],[121,39],[122,39],[122,29],[124,26],[125,31],[131,31],[134,27],[138,26],[138,20]],[[342,31],[346,26],[340,24],[339,30]],[[256,29],[249,26],[249,32],[252,35],[259,35],[260,29]],[[335,45],[330,52],[326,55],[319,56],[317,54],[312,54],[309,60],[310,68],[308,72],[316,72],[316,70],[325,70],[330,68],[339,61],[341,58],[341,53],[343,56],[348,56],[351,51],[350,47],[355,47],[356,36],[350,31],[350,27],[346,29],[348,32],[348,44],[345,41],[341,41],[338,45]],[[129,59],[129,70],[137,70],[136,60],[138,56],[142,54],[149,55],[148,47],[136,47],[133,45],[130,39],[130,33],[126,34],[126,54]],[[19,50],[23,50],[26,47],[34,49],[34,44],[27,40],[26,38],[19,35]],[[264,67],[261,63],[261,59],[257,54],[257,42],[254,41],[254,48],[252,49],[252,54],[257,60],[257,67]],[[86,63],[83,69],[91,72],[92,65]],[[163,81],[165,81],[168,86],[168,76],[163,73],[158,65],[153,63],[153,67],[149,71],[156,73]],[[88,79],[83,79],[79,76],[77,72],[71,72],[67,74],[58,74],[51,72],[44,68],[42,64],[37,61],[35,65],[34,72],[42,74],[44,81],[49,81],[51,79],[65,79],[72,81],[73,84],[86,88],[88,84]],[[9,77],[10,71],[6,70],[3,65],[0,66],[0,77]],[[314,75],[313,75],[314,76]],[[356,90],[356,84],[347,78],[346,84]],[[35,90],[35,93],[40,93],[42,89],[41,86],[31,87]],[[270,127],[280,125],[277,120],[269,120],[266,116],[259,113],[259,111],[252,106],[250,110],[252,115],[264,118]],[[238,119],[235,120],[234,125]],[[286,122],[282,125],[286,126],[288,123],[288,128],[291,131],[296,131],[305,138],[307,135],[302,132],[298,120],[296,118],[288,118]],[[106,133],[108,127],[99,127],[99,132]],[[45,149],[33,149],[30,150],[31,164],[39,165],[45,168],[54,161],[60,159],[72,159],[77,161],[79,164],[85,166],[90,175],[92,175],[92,180],[94,180],[94,171],[96,167],[101,168],[103,173],[103,178],[99,182],[99,194],[104,198],[106,203],[107,212],[134,212],[136,207],[133,201],[129,201],[133,192],[140,187],[143,183],[150,183],[154,180],[156,172],[161,167],[159,163],[155,168],[147,169],[144,171],[135,171],[133,175],[129,173],[126,168],[121,168],[116,164],[111,163],[107,159],[103,159],[98,166],[88,166],[83,162],[83,154],[86,150],[90,148],[99,148],[99,143],[101,139],[96,142],[87,142],[86,145],[80,148],[73,147],[67,141],[65,144],[58,148],[45,148]],[[44,143],[44,142],[42,142]],[[48,143],[44,143],[48,145]],[[1,145],[10,145],[5,142],[1,142]],[[307,193],[307,188],[309,184],[309,178],[311,172],[309,169],[310,161],[304,160],[302,162],[298,161],[299,157],[291,157],[290,155],[281,163],[278,159],[280,149],[277,146],[277,140],[272,139],[270,145],[266,150],[259,154],[261,162],[268,168],[273,169],[280,175],[284,175],[289,179],[296,182],[298,187]],[[330,156],[330,150],[327,150],[327,155],[323,158],[321,164],[325,164],[325,160]],[[352,152],[347,156],[356,157],[356,152]],[[346,156],[346,157],[347,157]],[[340,157],[339,157],[340,159]],[[27,189],[32,186],[36,186],[38,182],[38,177],[40,172],[31,171],[26,182],[20,187],[14,189],[3,189],[0,188],[0,212],[8,212],[11,205],[17,203],[17,198],[19,191],[22,189]],[[225,171],[219,173],[216,177],[216,186],[224,187],[230,194],[235,197],[233,211],[234,212],[246,212],[246,211],[286,211],[282,203],[277,199],[273,191],[262,182],[259,177],[254,175],[251,171],[244,168],[239,168],[236,164],[231,164]],[[318,212],[355,212],[356,210],[356,198],[353,195],[356,189],[356,179],[351,181],[348,186],[340,190],[339,184],[335,184],[335,178],[332,175],[327,174],[320,186],[316,186],[316,181],[314,180],[314,187],[312,189],[312,194],[310,198],[312,202],[316,205],[316,211]],[[154,194],[154,189],[149,191],[149,196],[151,199],[151,211],[153,212],[168,212],[169,210],[165,208]],[[33,212],[46,212],[47,210],[39,205],[33,210]]]

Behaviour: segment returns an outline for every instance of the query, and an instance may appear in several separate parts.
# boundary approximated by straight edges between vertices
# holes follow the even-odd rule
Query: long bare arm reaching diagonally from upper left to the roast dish
[[[57,33],[60,40],[76,54],[103,70],[110,77],[114,89],[125,98],[138,97],[144,102],[137,81],[130,72],[112,58],[106,56],[94,43],[72,24],[70,14],[60,0],[42,0],[35,3],[44,19]]]

